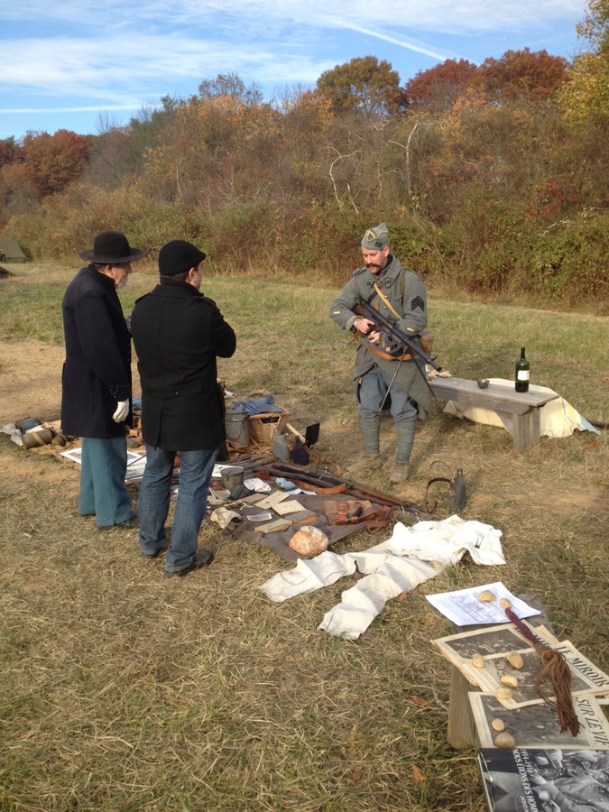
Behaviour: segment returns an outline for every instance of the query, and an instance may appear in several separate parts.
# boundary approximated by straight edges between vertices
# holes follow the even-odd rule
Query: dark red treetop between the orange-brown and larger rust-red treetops
[[[447,110],[477,70],[468,60],[444,60],[433,68],[420,70],[404,86],[410,109],[432,113]]]

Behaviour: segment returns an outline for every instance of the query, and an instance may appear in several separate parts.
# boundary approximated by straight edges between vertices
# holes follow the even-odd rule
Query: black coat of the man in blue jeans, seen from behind
[[[216,303],[188,282],[162,279],[135,302],[131,332],[142,383],[142,435],[152,448],[198,451],[226,439],[217,356],[235,331]]]

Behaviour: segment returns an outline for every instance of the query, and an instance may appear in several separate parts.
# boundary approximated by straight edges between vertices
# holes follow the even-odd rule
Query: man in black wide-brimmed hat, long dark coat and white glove
[[[99,530],[137,527],[125,486],[131,425],[131,340],[116,288],[143,251],[119,231],[102,231],[88,265],[69,283],[63,303],[66,360],[61,379],[61,430],[82,438],[78,513]]]

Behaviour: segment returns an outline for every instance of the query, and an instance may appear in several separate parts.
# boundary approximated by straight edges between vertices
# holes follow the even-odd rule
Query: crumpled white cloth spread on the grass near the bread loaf
[[[425,562],[442,567],[469,552],[476,564],[504,564],[501,536],[501,531],[489,524],[459,516],[419,521],[410,528],[398,521],[392,536],[381,544],[360,552],[338,555],[327,550],[316,558],[300,558],[296,567],[276,573],[259,588],[272,601],[281,603],[334,584],[358,569],[365,577],[343,593],[340,604],[330,609],[318,626],[329,634],[355,640],[388,600],[438,575],[438,566]]]

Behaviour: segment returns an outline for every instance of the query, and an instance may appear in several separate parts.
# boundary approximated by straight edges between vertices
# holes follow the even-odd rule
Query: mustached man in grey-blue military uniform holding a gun
[[[353,309],[359,300],[367,300],[384,318],[412,337],[414,344],[420,344],[418,334],[427,326],[427,294],[420,277],[402,267],[391,254],[389,231],[384,223],[366,231],[362,255],[365,266],[353,273],[330,305],[330,318],[340,328],[351,330],[358,341],[354,385],[364,455],[348,473],[383,466],[381,411],[389,391],[397,432],[397,452],[389,481],[403,483],[410,475],[415,416],[418,413],[425,420],[434,408],[424,363],[408,349],[405,355],[398,356],[384,352],[382,336],[374,330],[374,323],[358,316]]]

